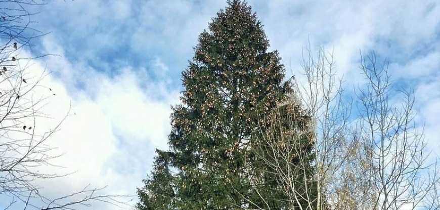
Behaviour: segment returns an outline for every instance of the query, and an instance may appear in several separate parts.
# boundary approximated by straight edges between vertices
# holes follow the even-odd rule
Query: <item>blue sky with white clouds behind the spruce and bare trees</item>
[[[398,84],[415,90],[426,137],[440,151],[440,3],[426,1],[248,1],[282,62],[299,69],[301,51],[334,50],[347,89],[362,81],[359,52],[390,61]],[[35,68],[57,97],[47,107],[69,117],[53,145],[59,163],[77,171],[41,183],[49,194],[86,184],[135,194],[150,171],[155,148],[166,149],[170,105],[179,103],[181,72],[200,32],[226,1],[54,1],[35,10],[35,27],[51,32],[30,54],[57,54]],[[290,76],[290,69],[287,70]],[[300,77],[301,75],[296,75]],[[440,153],[440,152],[439,152]],[[51,187],[55,186],[57,187]],[[93,209],[113,209],[98,205]]]

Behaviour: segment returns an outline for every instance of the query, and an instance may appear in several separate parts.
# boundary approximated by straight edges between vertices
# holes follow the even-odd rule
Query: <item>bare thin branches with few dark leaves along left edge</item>
[[[38,124],[38,119],[49,117],[40,110],[55,94],[40,84],[47,72],[35,75],[29,68],[32,60],[47,55],[21,57],[31,49],[33,39],[45,35],[32,28],[31,17],[37,13],[28,12],[29,7],[40,5],[43,2],[38,0],[0,1],[0,195],[10,199],[4,209],[14,205],[24,209],[80,209],[94,201],[126,205],[121,199],[127,196],[102,194],[105,187],[87,185],[77,192],[49,198],[36,184],[69,175],[41,172],[42,166],[58,167],[51,163],[59,155],[49,141],[64,120],[50,130]]]

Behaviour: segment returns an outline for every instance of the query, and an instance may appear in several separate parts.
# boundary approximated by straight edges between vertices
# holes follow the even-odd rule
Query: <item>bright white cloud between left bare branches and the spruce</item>
[[[149,170],[154,149],[167,148],[170,131],[170,106],[177,104],[178,91],[169,91],[165,83],[152,81],[144,70],[129,66],[112,77],[84,64],[74,64],[64,56],[54,40],[44,41],[47,49],[61,56],[36,60],[28,70],[39,74],[51,69],[37,89],[38,95],[52,95],[42,112],[51,118],[37,119],[38,131],[47,131],[66,115],[70,116],[50,139],[49,145],[63,153],[52,161],[66,167],[42,170],[74,174],[55,180],[38,181],[50,196],[60,196],[93,187],[109,185],[103,193],[134,195]],[[158,58],[153,67],[165,69]],[[52,91],[48,89],[51,88]],[[96,204],[94,209],[113,209]],[[107,207],[104,207],[107,206]]]

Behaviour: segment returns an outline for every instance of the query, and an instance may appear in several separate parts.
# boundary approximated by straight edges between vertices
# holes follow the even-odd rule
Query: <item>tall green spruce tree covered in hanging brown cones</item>
[[[212,19],[182,73],[185,89],[182,104],[172,109],[170,150],[157,151],[152,175],[138,190],[138,209],[241,209],[261,204],[261,197],[273,209],[288,207],[275,175],[254,170],[263,167],[252,152],[252,141],[261,136],[258,115],[271,113],[292,93],[278,52],[268,48],[246,3],[228,1]]]

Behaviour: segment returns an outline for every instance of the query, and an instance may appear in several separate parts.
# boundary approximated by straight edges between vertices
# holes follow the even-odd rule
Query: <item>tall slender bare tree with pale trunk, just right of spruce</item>
[[[301,63],[305,81],[295,83],[297,103],[309,111],[314,121],[318,196],[316,207],[311,209],[326,208],[326,198],[335,193],[337,178],[354,144],[347,137],[351,101],[343,99],[342,78],[338,78],[334,63],[332,53],[319,49],[315,58],[309,47]]]

